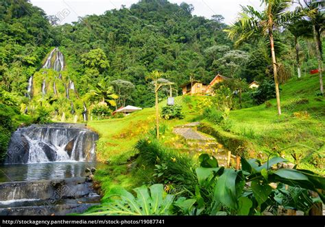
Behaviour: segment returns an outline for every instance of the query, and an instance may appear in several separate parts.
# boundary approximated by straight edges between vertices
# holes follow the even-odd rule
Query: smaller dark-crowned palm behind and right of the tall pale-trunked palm
[[[298,70],[298,78],[301,77],[301,68],[300,68],[300,59],[299,59],[299,43],[298,38],[313,38],[313,28],[309,21],[298,19],[296,21],[292,21],[287,25],[288,30],[294,37],[295,46],[296,46],[296,61],[297,61],[297,70]]]

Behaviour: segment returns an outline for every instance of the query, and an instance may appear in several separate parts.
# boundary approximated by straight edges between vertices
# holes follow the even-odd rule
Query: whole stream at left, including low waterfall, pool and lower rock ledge
[[[84,124],[17,129],[0,165],[0,215],[66,215],[99,204],[89,177],[99,167],[97,139]]]

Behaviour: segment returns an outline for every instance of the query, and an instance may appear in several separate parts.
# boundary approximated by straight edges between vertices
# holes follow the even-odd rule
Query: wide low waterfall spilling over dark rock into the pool
[[[5,163],[95,161],[97,139],[83,124],[32,124],[14,132]]]

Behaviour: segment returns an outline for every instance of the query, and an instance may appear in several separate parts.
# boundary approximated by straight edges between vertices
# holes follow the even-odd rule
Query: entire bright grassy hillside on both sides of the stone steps
[[[173,126],[201,120],[217,131],[221,144],[227,139],[230,143],[234,140],[243,142],[247,146],[246,155],[250,157],[266,160],[268,155],[282,155],[298,163],[299,168],[324,175],[325,101],[323,97],[316,96],[318,83],[317,75],[313,75],[300,80],[291,79],[282,85],[282,116],[277,116],[275,100],[230,111],[230,132],[201,116],[202,109],[197,103],[206,97],[180,96],[176,98],[176,103],[182,105],[185,118],[160,120],[167,132],[162,141],[173,146]],[[159,107],[165,105],[166,101],[162,101]],[[88,126],[100,135],[97,149],[99,161],[123,162],[132,156],[136,141],[150,131],[153,133],[154,114],[154,108],[147,108],[125,118],[88,122]],[[232,150],[234,148],[230,143],[225,146]]]

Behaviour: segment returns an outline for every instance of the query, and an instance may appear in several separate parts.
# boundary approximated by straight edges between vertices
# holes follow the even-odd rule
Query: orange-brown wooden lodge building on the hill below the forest
[[[220,81],[228,80],[230,78],[224,77],[221,75],[215,76],[215,78],[208,84],[204,84],[200,81],[193,80],[189,81],[187,83],[184,83],[180,87],[182,88],[182,94],[189,94],[189,95],[209,95],[212,93],[211,88],[216,83],[219,83]]]

